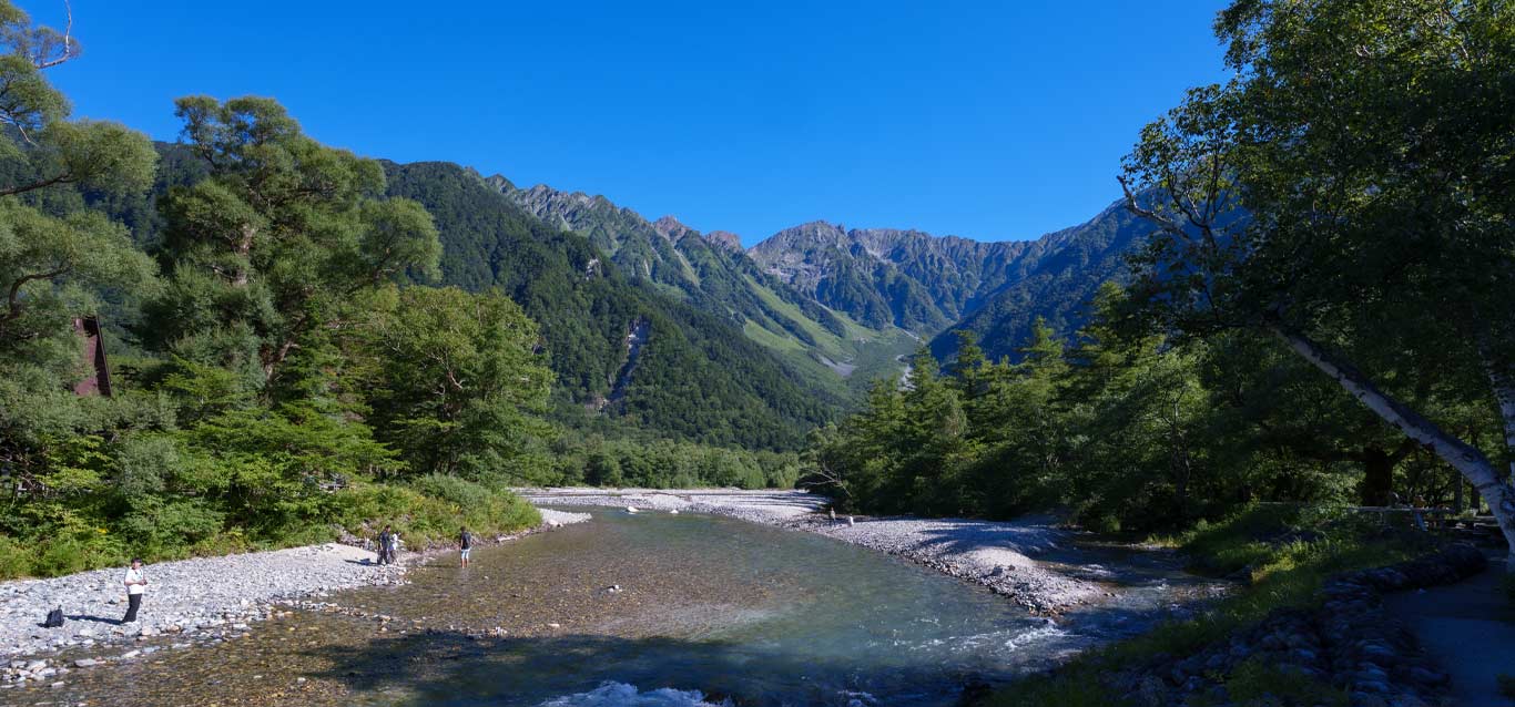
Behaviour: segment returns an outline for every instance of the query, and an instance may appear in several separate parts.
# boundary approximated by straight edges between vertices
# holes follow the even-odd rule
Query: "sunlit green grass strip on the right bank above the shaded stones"
[[[1209,574],[1227,575],[1250,568],[1251,584],[1218,601],[1200,618],[1162,624],[1144,636],[1080,656],[1053,674],[1001,689],[988,704],[1129,704],[1127,696],[1103,689],[1103,674],[1130,669],[1157,654],[1197,652],[1276,609],[1314,604],[1315,592],[1333,574],[1391,565],[1430,548],[1426,539],[1383,536],[1380,528],[1356,516],[1286,506],[1254,506],[1226,521],[1201,522],[1186,533],[1153,542],[1183,550]],[[1244,663],[1226,678],[1227,692],[1241,704],[1338,704],[1332,692],[1320,692],[1329,686],[1304,675],[1276,672],[1260,663]],[[1288,698],[1295,692],[1315,701]]]

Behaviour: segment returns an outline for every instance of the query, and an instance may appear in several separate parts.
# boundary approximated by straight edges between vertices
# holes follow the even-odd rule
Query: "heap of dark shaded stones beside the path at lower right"
[[[1345,572],[1318,592],[1318,609],[1286,609],[1189,656],[1154,656],[1110,675],[1115,693],[1138,704],[1233,704],[1226,681],[1244,665],[1310,678],[1350,695],[1356,707],[1444,704],[1450,678],[1391,616],[1385,592],[1460,581],[1488,566],[1470,545],[1377,569]],[[1321,696],[1324,699],[1324,696]]]

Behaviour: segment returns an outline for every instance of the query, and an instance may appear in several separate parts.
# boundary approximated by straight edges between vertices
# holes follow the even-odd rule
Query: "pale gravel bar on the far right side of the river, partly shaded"
[[[983,584],[1039,613],[1059,613],[1107,595],[1104,586],[1039,560],[1057,554],[1065,562],[1065,545],[1073,537],[1045,519],[854,518],[848,522],[847,516],[838,516],[833,522],[821,515],[826,498],[803,491],[517,489],[517,494],[538,506],[712,513],[820,533]]]

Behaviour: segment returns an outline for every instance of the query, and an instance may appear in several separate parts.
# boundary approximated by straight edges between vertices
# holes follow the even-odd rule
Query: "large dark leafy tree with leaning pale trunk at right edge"
[[[1159,227],[1133,298],[1188,335],[1277,336],[1467,477],[1515,559],[1509,472],[1417,406],[1412,375],[1448,360],[1442,385],[1501,421],[1515,465],[1515,6],[1239,0],[1217,32],[1236,77],[1124,165]]]

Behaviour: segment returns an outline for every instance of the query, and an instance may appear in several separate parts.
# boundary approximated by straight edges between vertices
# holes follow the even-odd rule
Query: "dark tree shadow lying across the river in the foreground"
[[[953,704],[964,690],[988,687],[979,675],[847,659],[791,657],[724,642],[609,636],[470,637],[453,631],[373,639],[362,648],[308,652],[332,666],[314,674],[345,683],[355,696],[394,690],[406,702],[450,705],[538,705],[583,693],[608,681],[642,692],[700,690],[708,701],[736,705]]]

